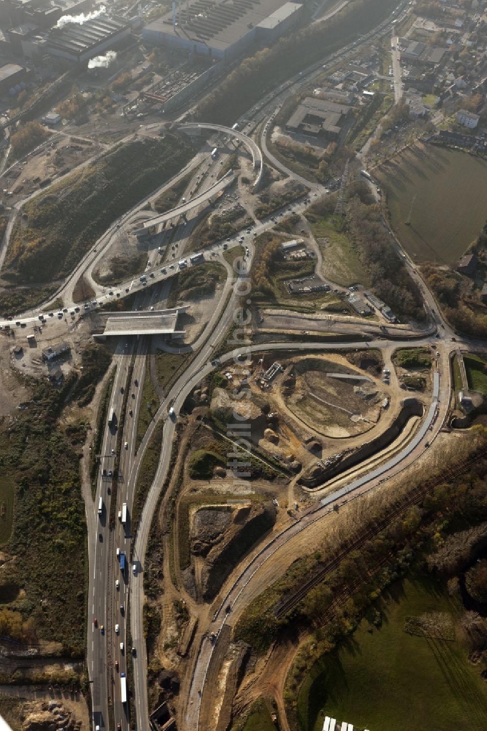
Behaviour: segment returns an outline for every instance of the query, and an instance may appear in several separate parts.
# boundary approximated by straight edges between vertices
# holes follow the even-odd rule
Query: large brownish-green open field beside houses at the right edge
[[[415,145],[374,177],[387,193],[393,229],[418,262],[453,264],[487,219],[487,161],[467,153]]]

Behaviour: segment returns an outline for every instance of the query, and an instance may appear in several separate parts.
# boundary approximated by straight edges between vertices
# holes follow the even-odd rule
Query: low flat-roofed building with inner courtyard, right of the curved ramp
[[[337,140],[341,128],[349,118],[352,107],[306,96],[286,123],[288,132]]]

